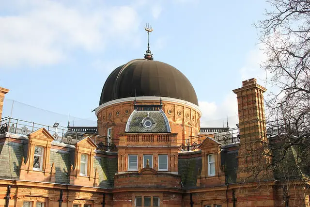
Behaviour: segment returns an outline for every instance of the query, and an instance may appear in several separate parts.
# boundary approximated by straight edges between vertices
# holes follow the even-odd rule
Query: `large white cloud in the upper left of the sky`
[[[75,49],[98,51],[113,40],[129,42],[140,24],[131,6],[88,10],[50,0],[6,4],[16,4],[16,13],[0,16],[0,67],[55,64]]]

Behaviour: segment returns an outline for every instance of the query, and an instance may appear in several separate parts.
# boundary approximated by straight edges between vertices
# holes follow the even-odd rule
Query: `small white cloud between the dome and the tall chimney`
[[[220,104],[215,102],[200,101],[202,111],[201,127],[226,127],[227,117],[230,127],[238,123],[237,98],[233,93],[226,95]]]

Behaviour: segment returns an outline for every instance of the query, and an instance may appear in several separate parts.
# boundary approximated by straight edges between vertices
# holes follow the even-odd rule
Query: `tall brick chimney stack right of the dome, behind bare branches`
[[[253,154],[262,149],[262,144],[267,142],[263,103],[263,93],[266,90],[256,83],[256,79],[242,81],[242,87],[233,90],[238,101],[240,130],[238,178],[240,179],[248,177],[249,171],[253,169],[251,167],[259,165],[258,158]]]

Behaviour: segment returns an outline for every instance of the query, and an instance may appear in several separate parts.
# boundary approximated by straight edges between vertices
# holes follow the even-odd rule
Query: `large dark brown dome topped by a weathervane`
[[[175,67],[159,61],[132,60],[117,67],[106,80],[99,105],[136,96],[178,98],[196,104],[198,99],[189,80]]]

